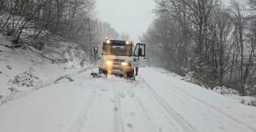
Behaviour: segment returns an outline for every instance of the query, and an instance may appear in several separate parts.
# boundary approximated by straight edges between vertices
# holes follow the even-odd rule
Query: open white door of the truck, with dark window
[[[146,44],[137,43],[133,52],[133,67],[146,66]]]

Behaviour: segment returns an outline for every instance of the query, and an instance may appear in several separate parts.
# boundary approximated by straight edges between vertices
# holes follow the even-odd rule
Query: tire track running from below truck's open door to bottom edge
[[[142,78],[143,79],[143,78]],[[176,112],[171,106],[169,106],[165,100],[160,98],[160,95],[157,95],[154,92],[154,89],[143,79],[143,82],[148,86],[148,89],[150,89],[150,95],[154,98],[155,101],[159,103],[159,106],[161,106],[168,115],[170,115],[179,125],[185,130],[185,131],[196,131],[195,128],[187,121],[185,120],[178,112]],[[159,108],[160,109],[160,108]],[[167,117],[166,117],[167,118]],[[172,122],[171,118],[168,118],[170,122]],[[172,123],[173,124],[173,123]]]

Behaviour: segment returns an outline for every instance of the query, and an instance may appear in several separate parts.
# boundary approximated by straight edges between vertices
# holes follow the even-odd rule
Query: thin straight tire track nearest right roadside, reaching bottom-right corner
[[[208,106],[208,107],[210,107],[211,109],[215,110],[216,112],[219,112],[219,113],[223,114],[225,117],[232,119],[232,120],[235,121],[236,123],[240,123],[241,125],[244,125],[246,128],[251,129],[251,130],[253,130],[253,131],[256,131],[256,129],[252,128],[251,126],[248,126],[247,124],[242,123],[242,122],[239,121],[238,119],[231,117],[229,114],[220,111],[218,108],[207,104],[207,102],[205,102],[205,101],[203,101],[203,100],[200,100],[199,98],[196,98],[194,95],[190,95],[188,92],[184,91],[183,89],[178,89],[176,85],[173,85],[172,83],[167,82],[164,78],[162,78],[162,77],[160,77],[160,76],[154,77],[154,78],[157,79],[158,81],[162,82],[162,83],[166,83],[167,85],[172,86],[172,88],[177,89],[178,91],[182,92],[184,95],[189,95],[189,97],[193,98],[194,100],[197,100],[197,101],[201,102],[201,104],[203,104],[203,105],[205,105],[205,106]],[[160,78],[161,78],[161,79],[160,79]],[[169,87],[168,87],[168,88],[169,88]],[[170,89],[170,88],[169,88],[169,89]],[[172,89],[172,90],[173,90],[173,89]],[[175,91],[175,92],[177,92],[177,91]]]

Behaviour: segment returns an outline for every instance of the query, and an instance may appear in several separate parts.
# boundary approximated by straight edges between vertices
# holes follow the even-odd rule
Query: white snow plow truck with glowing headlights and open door
[[[94,47],[95,58],[100,60],[99,72],[91,73],[94,77],[108,74],[135,79],[134,68],[146,66],[146,45],[143,43],[134,45],[106,38],[99,47]]]

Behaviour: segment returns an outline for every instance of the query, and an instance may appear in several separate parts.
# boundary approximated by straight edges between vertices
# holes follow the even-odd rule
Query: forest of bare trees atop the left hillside
[[[95,4],[95,0],[1,0],[0,32],[13,37],[13,49],[48,47],[54,52],[61,46],[58,42],[71,41],[92,59],[94,45],[105,37],[119,39],[108,22],[97,20]],[[61,40],[49,42],[55,38]]]

